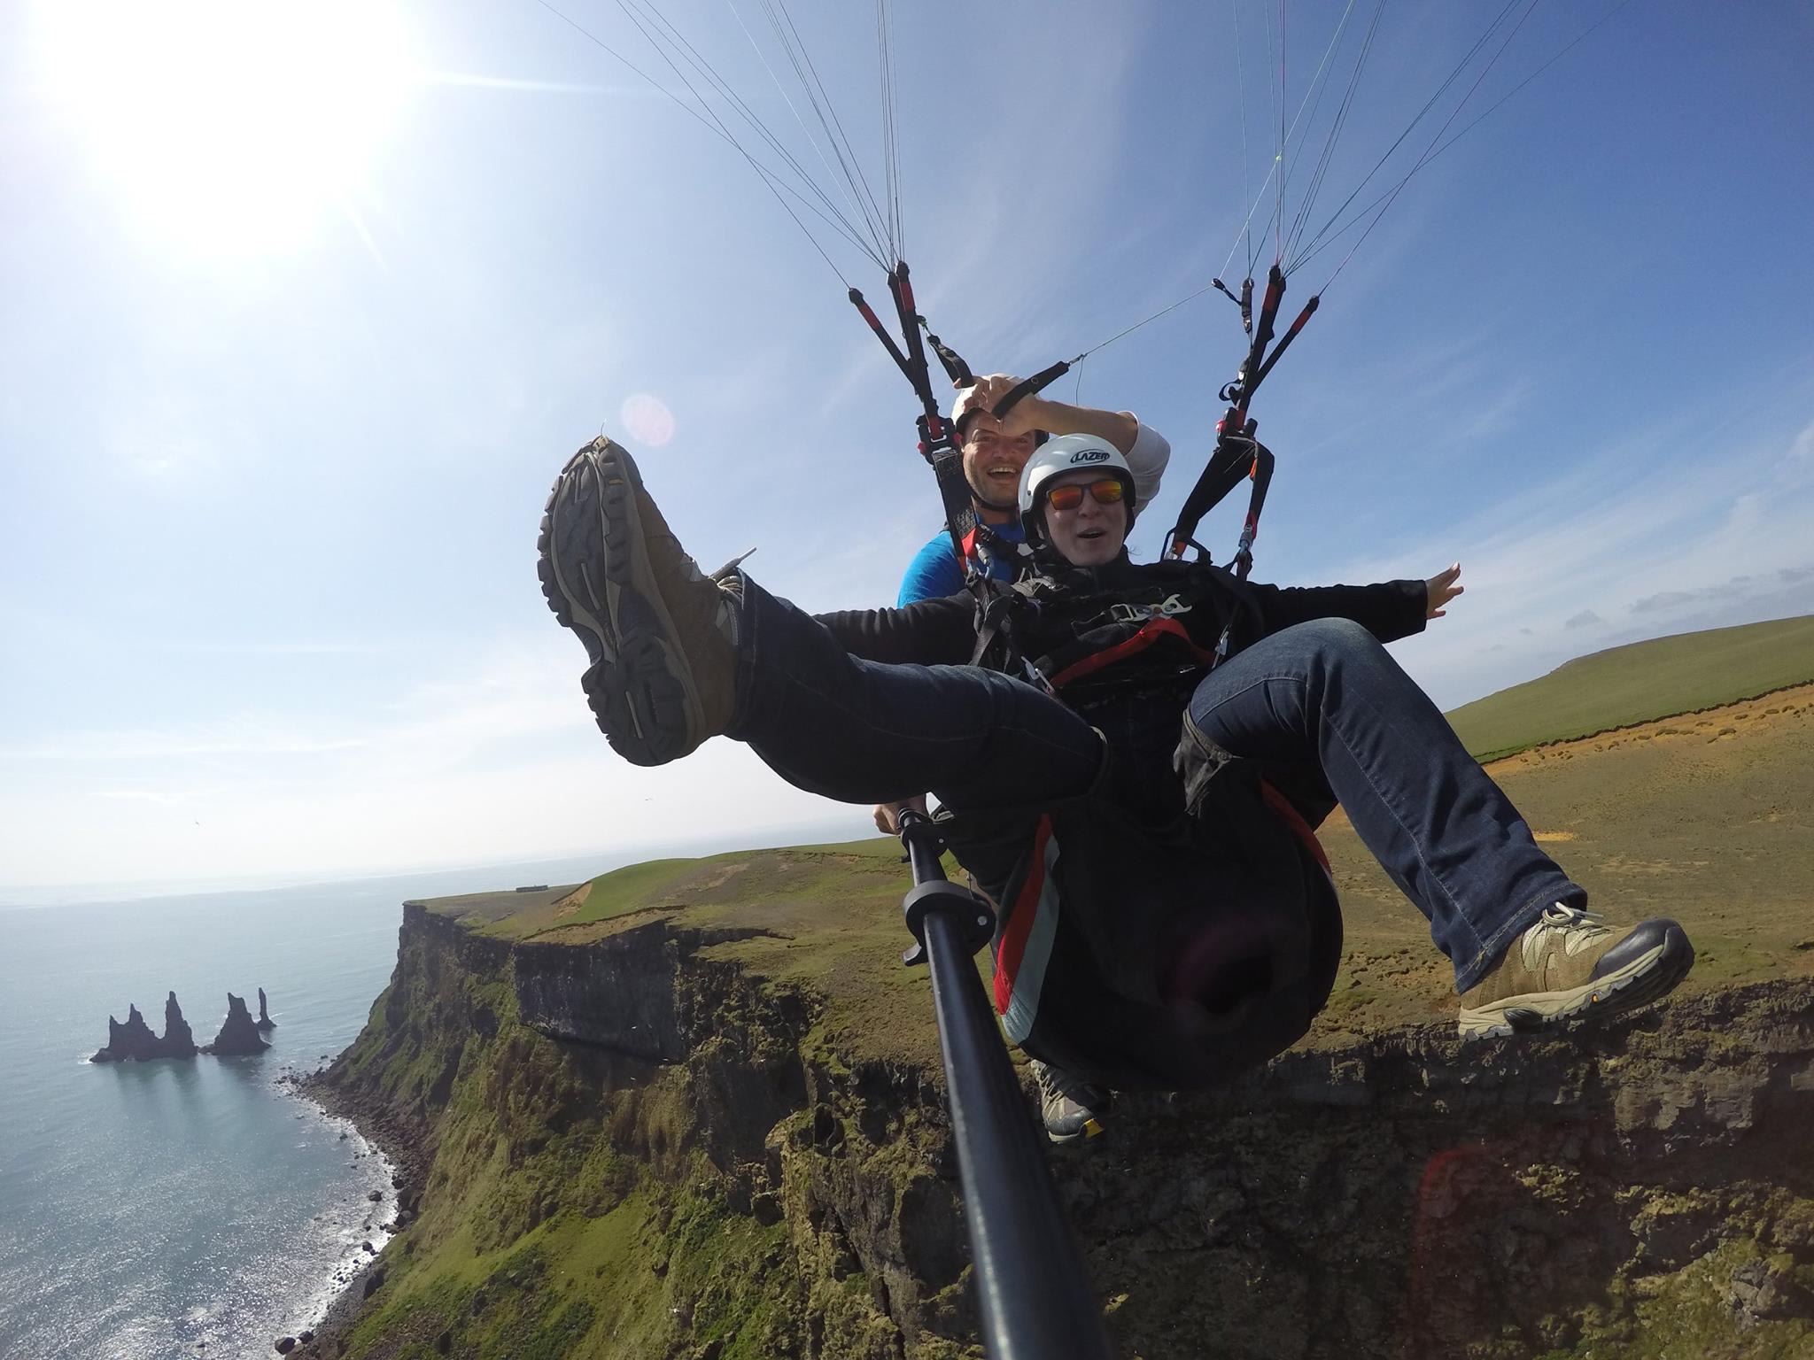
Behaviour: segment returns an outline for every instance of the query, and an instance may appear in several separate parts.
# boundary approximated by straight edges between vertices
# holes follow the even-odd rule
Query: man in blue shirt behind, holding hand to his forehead
[[[951,408],[963,453],[963,479],[970,484],[970,506],[983,531],[976,535],[976,557],[996,580],[1014,580],[1019,564],[1019,473],[1038,442],[1047,435],[1096,435],[1121,452],[1134,473],[1136,510],[1159,493],[1159,477],[1172,457],[1165,435],[1148,430],[1132,412],[1105,412],[1094,406],[1068,406],[1043,395],[1023,397],[1000,421],[990,413],[1018,377],[990,374],[965,388]],[[994,542],[992,542],[994,540]],[[914,553],[902,577],[896,604],[938,600],[963,589],[963,568],[951,549],[951,535],[940,531]]]

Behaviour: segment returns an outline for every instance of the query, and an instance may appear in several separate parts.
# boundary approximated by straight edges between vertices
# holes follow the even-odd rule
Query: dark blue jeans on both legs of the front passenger
[[[1034,685],[969,665],[867,662],[755,582],[744,591],[729,734],[796,789],[845,803],[931,791],[965,812],[1096,787],[1103,738]],[[1217,756],[1261,763],[1312,821],[1328,811],[1317,792],[1333,792],[1429,919],[1457,992],[1544,907],[1587,899],[1359,624],[1299,624],[1234,655],[1197,685],[1186,731]]]

